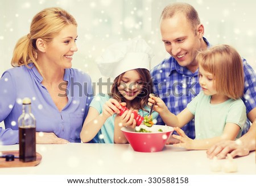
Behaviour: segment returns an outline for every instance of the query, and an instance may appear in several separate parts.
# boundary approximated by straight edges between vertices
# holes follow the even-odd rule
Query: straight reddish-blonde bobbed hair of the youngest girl
[[[231,46],[222,44],[200,51],[196,61],[214,76],[214,88],[236,100],[243,95],[243,64],[239,53]]]

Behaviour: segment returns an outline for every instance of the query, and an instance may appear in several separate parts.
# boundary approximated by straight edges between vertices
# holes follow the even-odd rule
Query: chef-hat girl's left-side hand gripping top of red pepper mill
[[[121,109],[121,104],[117,100],[110,98],[108,101],[105,102],[103,106],[102,115],[106,118],[109,118],[114,113],[119,113],[119,109]]]

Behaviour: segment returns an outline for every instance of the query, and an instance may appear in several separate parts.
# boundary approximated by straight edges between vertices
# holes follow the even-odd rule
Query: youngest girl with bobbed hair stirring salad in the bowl
[[[241,136],[246,121],[246,108],[240,97],[243,94],[243,65],[236,49],[221,45],[201,51],[196,57],[199,63],[199,84],[203,91],[180,114],[172,114],[158,97],[148,99],[148,105],[156,102],[154,110],[168,126],[175,127],[180,140],[175,146],[191,150],[207,150],[222,139],[234,140]],[[180,129],[195,119],[196,138],[193,140]]]

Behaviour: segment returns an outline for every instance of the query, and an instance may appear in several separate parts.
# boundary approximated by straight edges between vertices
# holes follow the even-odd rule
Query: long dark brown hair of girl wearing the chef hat
[[[131,101],[131,105],[133,106],[133,109],[144,109],[144,106],[147,105],[147,100],[149,98],[149,95],[153,93],[153,86],[152,86],[152,80],[150,76],[150,72],[147,69],[144,68],[137,68],[135,69],[141,75],[141,81],[142,81],[142,92],[139,94],[134,100]],[[119,93],[118,86],[121,84],[121,79],[125,72],[123,72],[121,75],[117,76],[114,79],[113,86],[111,89],[111,93],[109,96],[113,97],[118,102],[126,102],[125,98]]]

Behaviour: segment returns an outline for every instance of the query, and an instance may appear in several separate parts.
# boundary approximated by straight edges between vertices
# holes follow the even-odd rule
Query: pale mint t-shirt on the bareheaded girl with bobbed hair
[[[211,96],[201,91],[187,108],[195,115],[196,139],[206,139],[221,136],[226,123],[236,123],[240,126],[237,138],[241,137],[243,125],[246,122],[246,108],[241,99],[229,99],[221,104],[210,104]]]

